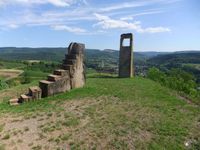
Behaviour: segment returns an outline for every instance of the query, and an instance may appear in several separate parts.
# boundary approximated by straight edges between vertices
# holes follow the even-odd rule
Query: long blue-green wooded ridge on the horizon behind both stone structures
[[[60,61],[67,52],[66,48],[16,48],[16,47],[2,47],[0,48],[0,59],[4,60],[52,60]],[[166,54],[166,52],[135,52],[134,60],[144,61],[157,55]],[[119,51],[112,49],[86,49],[86,57],[90,58],[112,58],[118,61]]]

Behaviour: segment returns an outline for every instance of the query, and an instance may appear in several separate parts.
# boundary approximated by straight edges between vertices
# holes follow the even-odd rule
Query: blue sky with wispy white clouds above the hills
[[[200,0],[0,0],[0,47],[200,50]]]

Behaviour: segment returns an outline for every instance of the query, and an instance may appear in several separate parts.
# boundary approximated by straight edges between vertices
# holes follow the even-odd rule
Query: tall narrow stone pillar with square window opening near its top
[[[133,76],[133,34],[122,34],[120,39],[119,77]]]

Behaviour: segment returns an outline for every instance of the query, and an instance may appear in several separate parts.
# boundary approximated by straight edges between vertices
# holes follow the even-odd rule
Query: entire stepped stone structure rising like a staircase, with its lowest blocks
[[[85,84],[84,50],[84,44],[71,43],[63,60],[62,68],[48,75],[46,80],[41,80],[39,86],[30,87],[27,94],[11,99],[10,105],[18,105],[83,87]]]

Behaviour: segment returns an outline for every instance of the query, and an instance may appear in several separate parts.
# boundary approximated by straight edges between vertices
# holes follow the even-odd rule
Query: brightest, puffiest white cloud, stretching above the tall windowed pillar
[[[115,20],[111,19],[108,16],[100,15],[95,13],[94,14],[99,21],[98,23],[94,24],[93,26],[100,26],[102,29],[124,29],[124,30],[135,30],[139,33],[158,33],[158,32],[169,32],[169,28],[165,27],[148,27],[142,28],[141,22],[126,22],[124,20]]]

